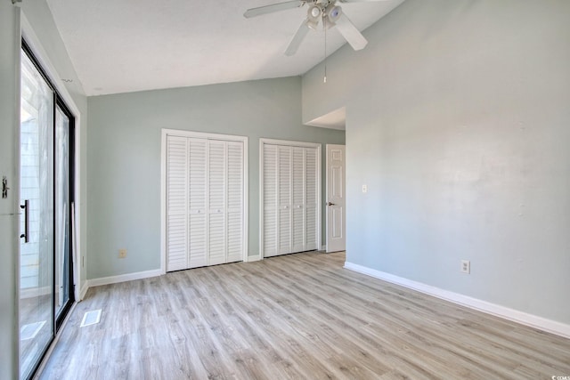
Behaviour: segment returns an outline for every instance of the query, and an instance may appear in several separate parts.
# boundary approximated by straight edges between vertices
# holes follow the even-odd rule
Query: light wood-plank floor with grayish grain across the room
[[[551,379],[570,340],[343,269],[344,253],[89,289],[43,379]],[[79,327],[85,311],[102,321]]]

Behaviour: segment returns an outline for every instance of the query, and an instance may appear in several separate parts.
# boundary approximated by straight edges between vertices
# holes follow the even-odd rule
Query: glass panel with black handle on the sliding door
[[[21,56],[20,194],[28,200],[20,240],[20,376],[37,367],[53,338],[53,91]],[[27,219],[27,220],[26,220]]]

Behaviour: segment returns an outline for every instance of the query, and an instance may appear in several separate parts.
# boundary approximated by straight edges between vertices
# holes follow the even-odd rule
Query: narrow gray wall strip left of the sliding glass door
[[[18,122],[20,77],[20,9],[0,0],[0,378],[18,378]]]

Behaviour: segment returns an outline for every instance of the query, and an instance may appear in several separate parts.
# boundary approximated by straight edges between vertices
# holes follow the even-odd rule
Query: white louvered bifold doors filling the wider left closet
[[[167,271],[243,257],[240,141],[167,136]]]

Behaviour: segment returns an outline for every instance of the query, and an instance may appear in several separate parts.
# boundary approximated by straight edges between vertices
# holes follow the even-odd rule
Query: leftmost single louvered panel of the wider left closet
[[[167,271],[188,267],[188,139],[167,137]]]

